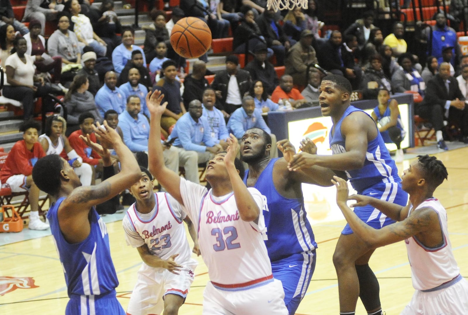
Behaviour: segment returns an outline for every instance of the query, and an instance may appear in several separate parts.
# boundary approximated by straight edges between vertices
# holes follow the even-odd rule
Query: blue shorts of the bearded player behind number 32
[[[315,249],[276,262],[271,262],[275,279],[281,280],[285,291],[285,304],[290,315],[294,314],[304,298],[315,270]]]

